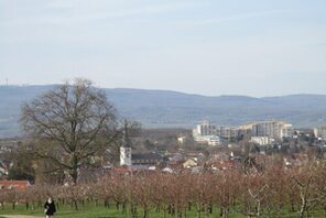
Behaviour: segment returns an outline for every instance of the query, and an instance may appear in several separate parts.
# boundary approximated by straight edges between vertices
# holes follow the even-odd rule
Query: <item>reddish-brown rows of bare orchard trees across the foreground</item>
[[[307,163],[284,168],[272,164],[263,172],[225,171],[218,173],[162,174],[159,172],[110,174],[97,183],[72,186],[33,185],[24,192],[0,192],[3,207],[17,203],[26,209],[43,206],[51,195],[57,203],[79,209],[85,204],[113,207],[135,217],[282,217],[297,211],[297,217],[326,217],[326,165]]]

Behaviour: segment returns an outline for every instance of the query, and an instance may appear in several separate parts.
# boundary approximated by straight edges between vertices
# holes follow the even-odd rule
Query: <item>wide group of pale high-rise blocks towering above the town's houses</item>
[[[254,143],[270,144],[275,140],[290,138],[293,133],[293,126],[283,121],[253,122],[238,127],[218,127],[204,121],[193,129],[194,140],[209,145],[218,145],[222,139],[236,139],[241,135],[250,135]]]

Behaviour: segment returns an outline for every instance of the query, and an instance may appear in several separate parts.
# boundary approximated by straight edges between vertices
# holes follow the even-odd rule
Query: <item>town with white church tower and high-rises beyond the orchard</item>
[[[143,130],[137,144],[120,146],[120,160],[106,162],[101,171],[204,172],[241,167],[243,157],[269,159],[282,154],[284,166],[315,157],[325,159],[326,127],[295,129],[284,121],[262,121],[239,127],[218,127],[204,121],[192,131],[186,129]],[[159,138],[157,138],[159,134]],[[161,135],[160,135],[161,134]],[[4,154],[19,150],[20,140],[1,141],[0,178],[10,177],[14,162]],[[248,151],[246,151],[248,150]],[[117,159],[116,159],[117,161]],[[18,176],[18,177],[14,177]],[[30,182],[33,182],[30,181]]]

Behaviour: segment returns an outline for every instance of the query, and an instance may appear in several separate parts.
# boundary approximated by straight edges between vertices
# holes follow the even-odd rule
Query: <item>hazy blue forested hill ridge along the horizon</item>
[[[0,138],[21,135],[21,105],[53,87],[0,86]],[[326,123],[326,95],[252,98],[124,88],[105,91],[121,116],[140,121],[144,128],[189,128],[203,120],[224,126],[271,119],[285,120],[296,127]]]

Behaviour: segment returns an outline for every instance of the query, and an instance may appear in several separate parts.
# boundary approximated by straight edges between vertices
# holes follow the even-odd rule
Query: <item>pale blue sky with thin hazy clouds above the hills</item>
[[[326,95],[325,0],[0,0],[0,84]]]

